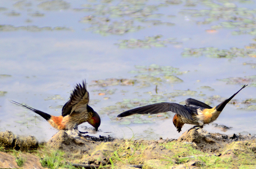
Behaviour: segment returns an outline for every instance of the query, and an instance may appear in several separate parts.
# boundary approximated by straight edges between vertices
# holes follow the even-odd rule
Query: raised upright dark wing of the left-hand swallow
[[[72,108],[76,104],[87,105],[89,103],[89,93],[86,89],[85,80],[81,84],[76,84],[73,93],[71,93],[70,99],[66,102],[62,108],[62,116],[70,115],[73,110]]]

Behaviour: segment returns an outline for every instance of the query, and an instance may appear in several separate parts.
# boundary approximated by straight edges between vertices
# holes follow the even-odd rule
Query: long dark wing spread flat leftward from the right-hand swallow
[[[121,118],[121,117],[129,116],[132,114],[157,114],[157,113],[164,113],[167,111],[172,111],[173,113],[177,113],[181,116],[184,116],[187,119],[193,120],[190,109],[188,109],[184,105],[180,105],[177,103],[150,104],[143,107],[124,111],[123,113],[119,114],[117,117]]]

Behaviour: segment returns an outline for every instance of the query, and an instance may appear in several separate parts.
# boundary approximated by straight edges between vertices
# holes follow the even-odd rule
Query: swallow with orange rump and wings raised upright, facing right
[[[33,111],[34,113],[42,116],[46,119],[51,126],[58,130],[73,130],[77,133],[88,133],[81,132],[78,130],[78,125],[88,122],[90,125],[98,130],[101,124],[100,116],[94,109],[92,109],[89,103],[89,93],[86,89],[86,82],[82,81],[82,84],[76,84],[73,93],[70,94],[70,99],[66,102],[62,108],[62,115],[53,116],[43,111],[34,109],[28,105],[23,105],[12,100],[13,104],[26,108]]]

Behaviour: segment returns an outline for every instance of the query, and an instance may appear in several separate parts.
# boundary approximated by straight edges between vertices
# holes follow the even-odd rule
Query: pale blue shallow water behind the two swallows
[[[248,33],[247,29],[242,27],[223,27],[208,32],[206,30],[211,29],[211,26],[219,25],[222,21],[230,21],[228,14],[225,14],[224,18],[210,23],[197,24],[207,16],[193,17],[181,12],[184,9],[212,9],[209,4],[214,4],[214,1],[208,1],[208,6],[206,4],[186,6],[185,2],[173,5],[165,1],[141,1],[140,5],[136,5],[133,1],[127,1],[128,5],[122,6],[120,15],[117,15],[116,11],[118,10],[113,9],[114,7],[119,9],[118,5],[122,5],[126,1],[122,1],[122,3],[120,1],[52,2],[55,2],[51,5],[55,8],[50,9],[42,1],[0,2],[0,7],[2,7],[0,8],[0,91],[7,92],[0,96],[1,131],[11,130],[20,135],[34,135],[39,140],[48,140],[57,130],[53,129],[43,118],[35,116],[33,112],[11,104],[10,100],[26,103],[52,115],[60,115],[62,105],[68,101],[75,84],[86,79],[91,99],[90,105],[102,119],[100,131],[91,133],[95,136],[111,135],[130,138],[135,134],[137,139],[178,138],[181,133],[178,133],[172,125],[173,113],[165,113],[161,117],[133,116],[131,118],[137,118],[137,122],[122,124],[123,121],[129,121],[129,118],[120,120],[115,116],[136,106],[129,107],[126,104],[126,106],[120,107],[118,102],[123,102],[123,99],[145,99],[144,104],[150,104],[150,99],[151,101],[153,99],[154,102],[180,103],[189,97],[203,101],[214,95],[228,98],[243,84],[249,84],[249,86],[234,98],[237,100],[237,104],[228,104],[215,121],[217,124],[232,128],[226,132],[211,124],[204,128],[209,132],[226,134],[239,132],[256,134],[255,109],[245,110],[248,105],[241,103],[248,98],[255,99],[256,80],[255,78],[248,80],[246,77],[255,75],[256,70],[255,48],[253,45],[249,48],[250,43],[255,43],[254,33]],[[232,16],[234,14],[230,11],[239,12],[242,7],[249,11],[256,7],[252,1],[247,3],[236,1],[235,4],[231,2],[233,1],[230,1],[230,4],[221,2],[218,4],[225,7],[223,11],[229,11]],[[232,7],[234,5],[236,7]],[[135,13],[138,16],[125,14],[129,13],[128,9],[131,10],[130,13]],[[138,13],[138,11],[144,13]],[[156,17],[149,15],[150,13],[158,13],[162,16]],[[248,16],[237,14],[236,17],[240,20],[245,17],[254,21],[255,13],[251,11]],[[94,16],[96,21],[101,20],[101,24],[99,25],[94,20],[81,22],[84,20],[83,17],[89,15]],[[146,15],[147,17],[144,17]],[[103,20],[100,17],[108,17],[110,21],[106,22],[106,19]],[[140,21],[138,17],[144,21]],[[124,23],[123,19],[130,20],[132,23]],[[155,22],[150,20],[161,22],[154,24]],[[249,24],[248,20],[242,21]],[[120,22],[121,26],[117,26],[113,21]],[[162,22],[175,23],[175,25],[170,26]],[[231,22],[235,21],[231,20]],[[104,32],[105,29],[102,28],[105,28],[106,25],[112,27],[114,31],[108,29],[108,32]],[[138,26],[144,28],[138,29]],[[117,27],[119,29],[115,30],[114,28]],[[85,30],[88,28],[90,29]],[[243,30],[244,33],[232,34],[238,30]],[[162,35],[162,37],[153,42],[145,38],[156,35]],[[168,38],[175,38],[175,40],[170,40],[175,43],[166,43],[164,40]],[[119,48],[117,43],[129,39],[141,39],[142,42],[132,45],[134,48]],[[230,48],[236,47],[239,50],[233,51],[233,54],[238,57],[215,58],[213,54],[216,52],[210,50],[208,50],[209,56],[207,56],[207,50],[200,51],[201,56],[194,56],[195,53],[191,53],[190,56],[182,56],[186,48],[205,47],[226,49],[230,53],[232,53]],[[245,52],[242,55],[244,57],[241,57],[240,49],[252,51]],[[148,67],[151,64],[178,68],[178,71],[183,73],[174,73],[174,75],[183,82],[170,82],[164,77],[163,71],[139,73],[139,69],[135,67],[135,65]],[[131,71],[137,72],[132,73]],[[152,73],[153,77],[160,77],[161,81],[150,81],[152,76],[149,75]],[[144,81],[148,82],[147,87],[142,86],[142,77],[136,77],[141,74],[146,75]],[[230,80],[233,83],[219,80],[230,77],[244,79]],[[106,78],[128,78],[135,79],[137,82],[132,86],[92,85],[95,84],[93,81]],[[158,84],[158,97],[154,96],[156,84]],[[201,88],[201,86],[210,86],[211,90]],[[183,93],[175,97],[166,94],[175,90],[187,91],[188,89],[196,91],[196,93],[192,95]],[[108,93],[105,90],[113,92]],[[210,105],[215,106],[218,103],[220,100],[212,99]],[[255,103],[252,102],[249,105],[255,105]],[[108,106],[114,107],[106,109]],[[141,124],[142,121],[145,123]],[[84,125],[91,127],[88,124],[81,126]],[[191,125],[185,125],[182,131],[190,127]],[[82,130],[82,128],[80,129]]]

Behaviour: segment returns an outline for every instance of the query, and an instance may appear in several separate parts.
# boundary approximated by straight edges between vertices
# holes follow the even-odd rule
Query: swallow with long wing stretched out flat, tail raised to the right
[[[240,92],[247,85],[244,85],[238,92]],[[177,128],[178,132],[181,131],[181,128],[183,127],[184,124],[195,125],[191,129],[194,129],[196,127],[202,129],[203,125],[209,124],[218,118],[226,104],[228,104],[228,102],[234,96],[236,96],[238,92],[236,92],[235,94],[233,94],[233,96],[224,100],[222,103],[215,106],[214,108],[196,99],[188,98],[185,100],[185,105],[177,103],[155,103],[124,111],[117,117],[122,118],[133,114],[158,114],[171,111],[173,113],[176,113],[172,119],[172,122],[174,126]]]

